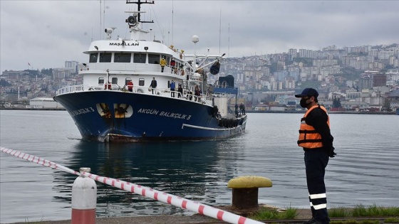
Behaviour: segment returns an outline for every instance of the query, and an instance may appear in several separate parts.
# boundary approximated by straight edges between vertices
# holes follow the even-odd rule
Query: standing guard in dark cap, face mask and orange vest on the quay
[[[301,119],[298,146],[304,149],[306,183],[309,191],[312,218],[304,224],[328,224],[327,196],[324,175],[329,157],[336,153],[330,132],[330,119],[325,107],[318,104],[318,92],[305,88],[300,97],[301,107],[307,109]]]

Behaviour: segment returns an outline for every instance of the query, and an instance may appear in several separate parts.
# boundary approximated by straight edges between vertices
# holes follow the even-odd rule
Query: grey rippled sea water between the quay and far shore
[[[309,208],[304,152],[296,145],[302,114],[248,114],[245,134],[198,142],[103,144],[81,140],[65,111],[0,111],[0,146],[78,171],[120,178],[209,206],[230,205],[227,182],[264,176],[259,203]],[[399,206],[399,116],[331,114],[336,158],[326,169],[328,207]],[[0,223],[71,218],[76,176],[0,153]],[[97,183],[97,215],[190,214]]]

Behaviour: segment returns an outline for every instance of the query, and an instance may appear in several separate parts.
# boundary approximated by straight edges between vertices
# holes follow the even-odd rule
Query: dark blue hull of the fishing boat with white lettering
[[[247,115],[218,119],[214,108],[177,98],[120,91],[57,95],[83,139],[98,142],[222,139],[244,132]]]

